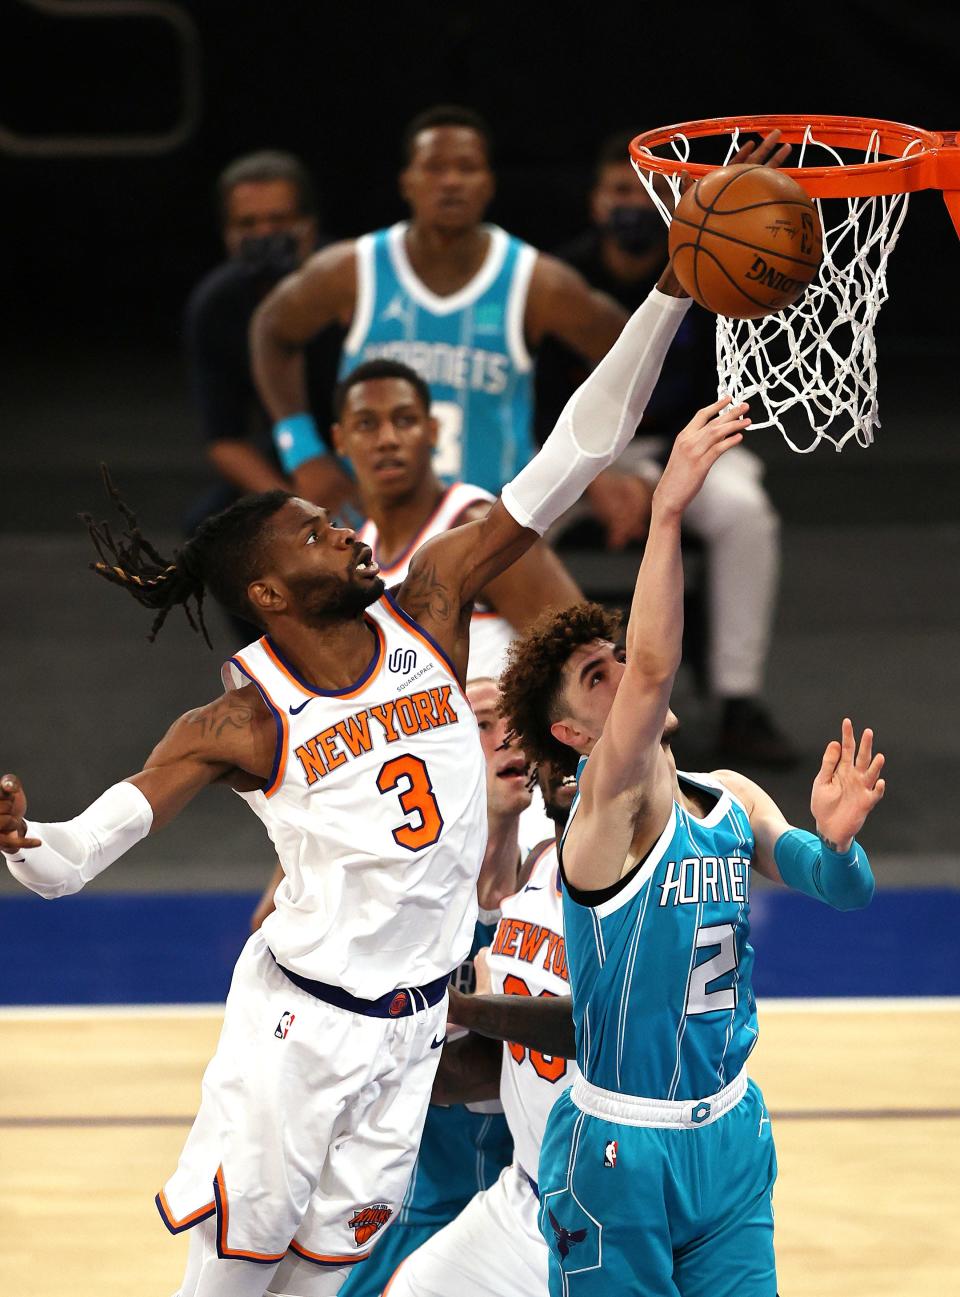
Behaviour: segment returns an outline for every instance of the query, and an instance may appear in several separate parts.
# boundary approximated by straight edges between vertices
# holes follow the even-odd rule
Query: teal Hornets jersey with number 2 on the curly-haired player
[[[582,905],[564,886],[563,922],[586,1080],[684,1101],[729,1084],[756,1043],[754,835],[717,779],[677,777],[716,799],[710,812],[698,820],[675,802],[659,840],[612,896]],[[567,827],[577,805],[579,794]]]

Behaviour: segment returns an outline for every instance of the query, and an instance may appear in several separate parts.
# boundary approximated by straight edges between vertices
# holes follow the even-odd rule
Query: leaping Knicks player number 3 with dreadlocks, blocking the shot
[[[77,818],[27,822],[16,777],[0,789],[10,872],[51,899],[211,783],[250,804],[283,861],[158,1195],[169,1228],[193,1231],[179,1297],[336,1293],[396,1217],[477,913],[470,612],[623,451],[688,306],[664,271],[537,457],[484,518],[423,545],[396,593],[350,529],[279,490],[204,523],[174,562],[126,507],[123,540],[91,525],[97,571],[157,611],[153,634],[178,606],[202,630],[208,589],[266,632],[226,664],[223,698]]]

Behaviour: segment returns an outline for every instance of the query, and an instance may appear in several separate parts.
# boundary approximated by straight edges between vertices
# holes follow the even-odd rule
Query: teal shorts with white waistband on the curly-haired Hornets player
[[[776,1297],[776,1178],[752,1082],[691,1128],[592,1117],[566,1091],[538,1174],[551,1297]]]

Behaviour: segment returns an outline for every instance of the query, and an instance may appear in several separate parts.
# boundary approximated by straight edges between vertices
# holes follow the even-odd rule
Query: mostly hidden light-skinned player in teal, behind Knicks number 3
[[[489,946],[503,896],[516,891],[520,868],[519,822],[531,804],[527,764],[519,747],[505,742],[497,713],[499,693],[492,680],[467,682],[486,760],[486,852],[477,879],[480,917],[470,958],[450,978],[455,991],[476,987],[474,956]],[[514,1141],[497,1101],[431,1104],[416,1166],[403,1205],[368,1261],[355,1266],[342,1297],[379,1297],[390,1275],[422,1243],[459,1215],[475,1193],[488,1189],[514,1157]]]

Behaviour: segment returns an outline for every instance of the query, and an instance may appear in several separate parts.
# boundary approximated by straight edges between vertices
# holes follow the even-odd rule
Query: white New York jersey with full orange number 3
[[[366,619],[372,656],[348,689],[311,686],[269,636],[223,681],[256,685],[276,722],[271,778],[240,794],[284,872],[267,944],[284,968],[374,1000],[470,955],[486,770],[442,650],[389,594]]]

